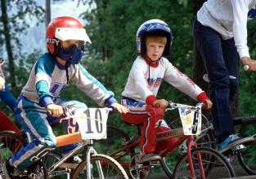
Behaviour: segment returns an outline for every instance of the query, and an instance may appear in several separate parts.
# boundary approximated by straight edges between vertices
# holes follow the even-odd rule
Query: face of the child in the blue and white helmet
[[[146,55],[153,61],[158,60],[164,52],[164,43],[159,41],[146,41]]]

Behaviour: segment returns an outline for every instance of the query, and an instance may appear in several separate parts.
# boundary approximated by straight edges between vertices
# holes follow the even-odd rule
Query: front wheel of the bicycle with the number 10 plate
[[[97,163],[101,163],[102,172],[104,177],[115,177],[119,179],[128,179],[127,173],[124,168],[113,158],[108,155],[95,154],[91,156],[90,167],[92,169],[92,178],[99,178],[99,169]],[[71,178],[87,178],[86,161],[83,160],[79,166],[74,170]]]

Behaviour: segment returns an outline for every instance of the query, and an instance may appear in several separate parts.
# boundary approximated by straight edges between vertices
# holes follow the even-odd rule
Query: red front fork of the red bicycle
[[[195,177],[195,168],[194,168],[194,164],[193,164],[193,156],[191,155],[191,148],[196,147],[196,144],[194,142],[194,140],[191,140],[191,138],[193,138],[192,136],[189,137],[189,142],[187,143],[187,162],[190,168],[190,172],[191,172],[191,178],[196,178]],[[204,175],[204,166],[203,166],[203,162],[202,162],[202,157],[200,154],[196,155],[196,161],[198,162],[199,168],[200,168],[200,177],[202,179],[205,179],[205,175]],[[196,162],[195,161],[195,162]]]

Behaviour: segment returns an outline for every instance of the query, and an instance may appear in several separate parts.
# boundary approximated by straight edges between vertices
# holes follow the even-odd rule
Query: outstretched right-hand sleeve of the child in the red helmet
[[[85,94],[94,100],[99,106],[110,106],[116,103],[114,93],[107,90],[100,81],[97,81],[82,65],[76,65],[74,76],[72,78],[75,85]]]

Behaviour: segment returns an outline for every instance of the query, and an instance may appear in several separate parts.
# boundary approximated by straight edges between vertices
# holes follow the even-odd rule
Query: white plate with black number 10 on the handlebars
[[[73,118],[79,124],[83,140],[106,138],[108,113],[104,108],[76,109]]]

